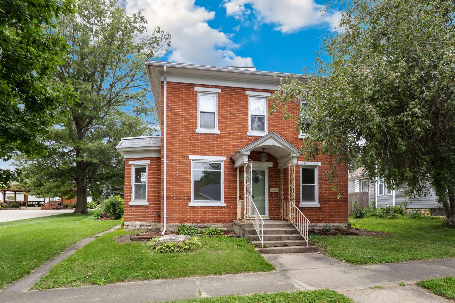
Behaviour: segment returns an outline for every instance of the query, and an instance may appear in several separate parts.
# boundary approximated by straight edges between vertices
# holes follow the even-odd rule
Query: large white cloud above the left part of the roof
[[[253,66],[253,59],[236,55],[239,47],[232,35],[211,28],[207,21],[215,12],[196,6],[195,0],[126,0],[126,12],[138,10],[148,21],[151,32],[156,26],[172,36],[169,60],[216,66]]]

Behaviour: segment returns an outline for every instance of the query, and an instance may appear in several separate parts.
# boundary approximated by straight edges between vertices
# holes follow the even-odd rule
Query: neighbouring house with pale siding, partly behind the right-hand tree
[[[384,179],[369,179],[368,172],[364,167],[356,169],[349,174],[349,193],[369,192],[369,203],[376,202],[376,207],[404,206],[408,209],[431,209],[432,215],[441,215],[442,205],[438,203],[435,190],[429,188],[426,195],[409,198],[404,194],[404,188],[393,189],[388,187]]]

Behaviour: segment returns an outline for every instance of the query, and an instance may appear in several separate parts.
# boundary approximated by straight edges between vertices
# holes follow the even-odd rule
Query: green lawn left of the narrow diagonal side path
[[[0,223],[0,289],[80,239],[119,224],[119,220],[89,221],[86,217],[59,214]]]

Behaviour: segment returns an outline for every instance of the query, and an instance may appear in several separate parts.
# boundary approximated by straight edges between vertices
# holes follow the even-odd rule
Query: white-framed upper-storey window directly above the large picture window
[[[197,133],[219,134],[218,94],[216,92],[197,92]]]

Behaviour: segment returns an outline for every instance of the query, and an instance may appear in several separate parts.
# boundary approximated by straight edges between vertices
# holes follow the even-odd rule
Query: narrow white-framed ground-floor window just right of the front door
[[[300,166],[300,207],[320,207],[318,199],[318,166]]]

